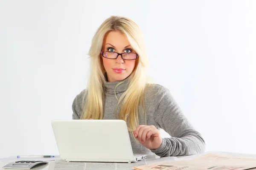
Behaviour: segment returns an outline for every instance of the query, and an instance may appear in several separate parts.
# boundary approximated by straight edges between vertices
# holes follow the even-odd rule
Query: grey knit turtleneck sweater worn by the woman
[[[119,82],[107,82],[105,85],[105,103],[103,119],[115,119],[117,99],[114,88]],[[127,89],[127,83],[116,88],[117,96],[121,96]],[[73,119],[80,119],[83,108],[83,94],[86,89],[76,96],[73,101]],[[86,97],[86,96],[85,96]],[[131,137],[131,146],[134,153],[155,153],[158,156],[182,156],[203,153],[205,142],[201,134],[189,123],[180,107],[173,99],[167,88],[161,85],[150,85],[145,91],[146,125],[154,125],[169,133],[171,138],[163,138],[161,146],[149,150]],[[120,108],[117,108],[117,113]],[[139,108],[140,113],[140,108]],[[145,125],[145,118],[139,116],[140,125]]]

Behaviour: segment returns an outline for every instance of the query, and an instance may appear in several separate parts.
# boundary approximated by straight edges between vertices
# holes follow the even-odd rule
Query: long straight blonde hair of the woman
[[[147,82],[146,68],[148,66],[148,57],[145,51],[144,38],[139,26],[126,17],[109,17],[102,23],[93,37],[88,54],[91,59],[90,77],[87,91],[84,93],[84,99],[86,99],[83,102],[84,110],[81,119],[102,119],[103,117],[104,85],[106,80],[104,76],[105,68],[99,54],[102,49],[104,37],[110,31],[120,31],[124,33],[131,46],[137,54],[139,54],[134,71],[124,80],[128,81],[128,89],[118,100],[118,105],[121,107],[119,115],[116,117],[116,119],[125,120],[125,122],[127,122],[128,130],[134,131],[140,123],[138,113],[139,107],[142,107],[142,111],[144,115],[146,115],[144,91]],[[118,85],[122,84],[124,81]],[[123,105],[123,103],[125,103],[125,105]]]

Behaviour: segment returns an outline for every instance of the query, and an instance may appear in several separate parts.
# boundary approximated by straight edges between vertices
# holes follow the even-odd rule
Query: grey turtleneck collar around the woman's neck
[[[108,82],[107,74],[105,73],[105,79],[106,79],[106,83],[105,83],[106,94],[120,94],[125,92],[128,89],[127,78],[121,81]],[[122,82],[122,84],[118,85],[120,82]],[[116,88],[116,85],[118,85],[117,88]],[[115,88],[116,88],[116,91],[115,91]]]

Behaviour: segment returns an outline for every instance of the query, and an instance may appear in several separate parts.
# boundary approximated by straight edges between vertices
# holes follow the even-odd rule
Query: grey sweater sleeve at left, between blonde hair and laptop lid
[[[72,115],[72,119],[81,119],[81,114],[83,111],[83,95],[84,95],[84,91],[82,91],[80,94],[76,95],[75,99],[73,100],[72,103],[72,111],[73,111],[73,115]]]

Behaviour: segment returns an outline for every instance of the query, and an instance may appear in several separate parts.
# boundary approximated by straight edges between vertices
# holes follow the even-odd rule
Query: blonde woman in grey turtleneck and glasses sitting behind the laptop
[[[204,152],[204,139],[169,90],[147,82],[145,43],[136,23],[117,16],[105,20],[93,37],[89,56],[90,79],[74,99],[73,119],[125,120],[134,153]],[[157,127],[172,137],[162,139]]]

